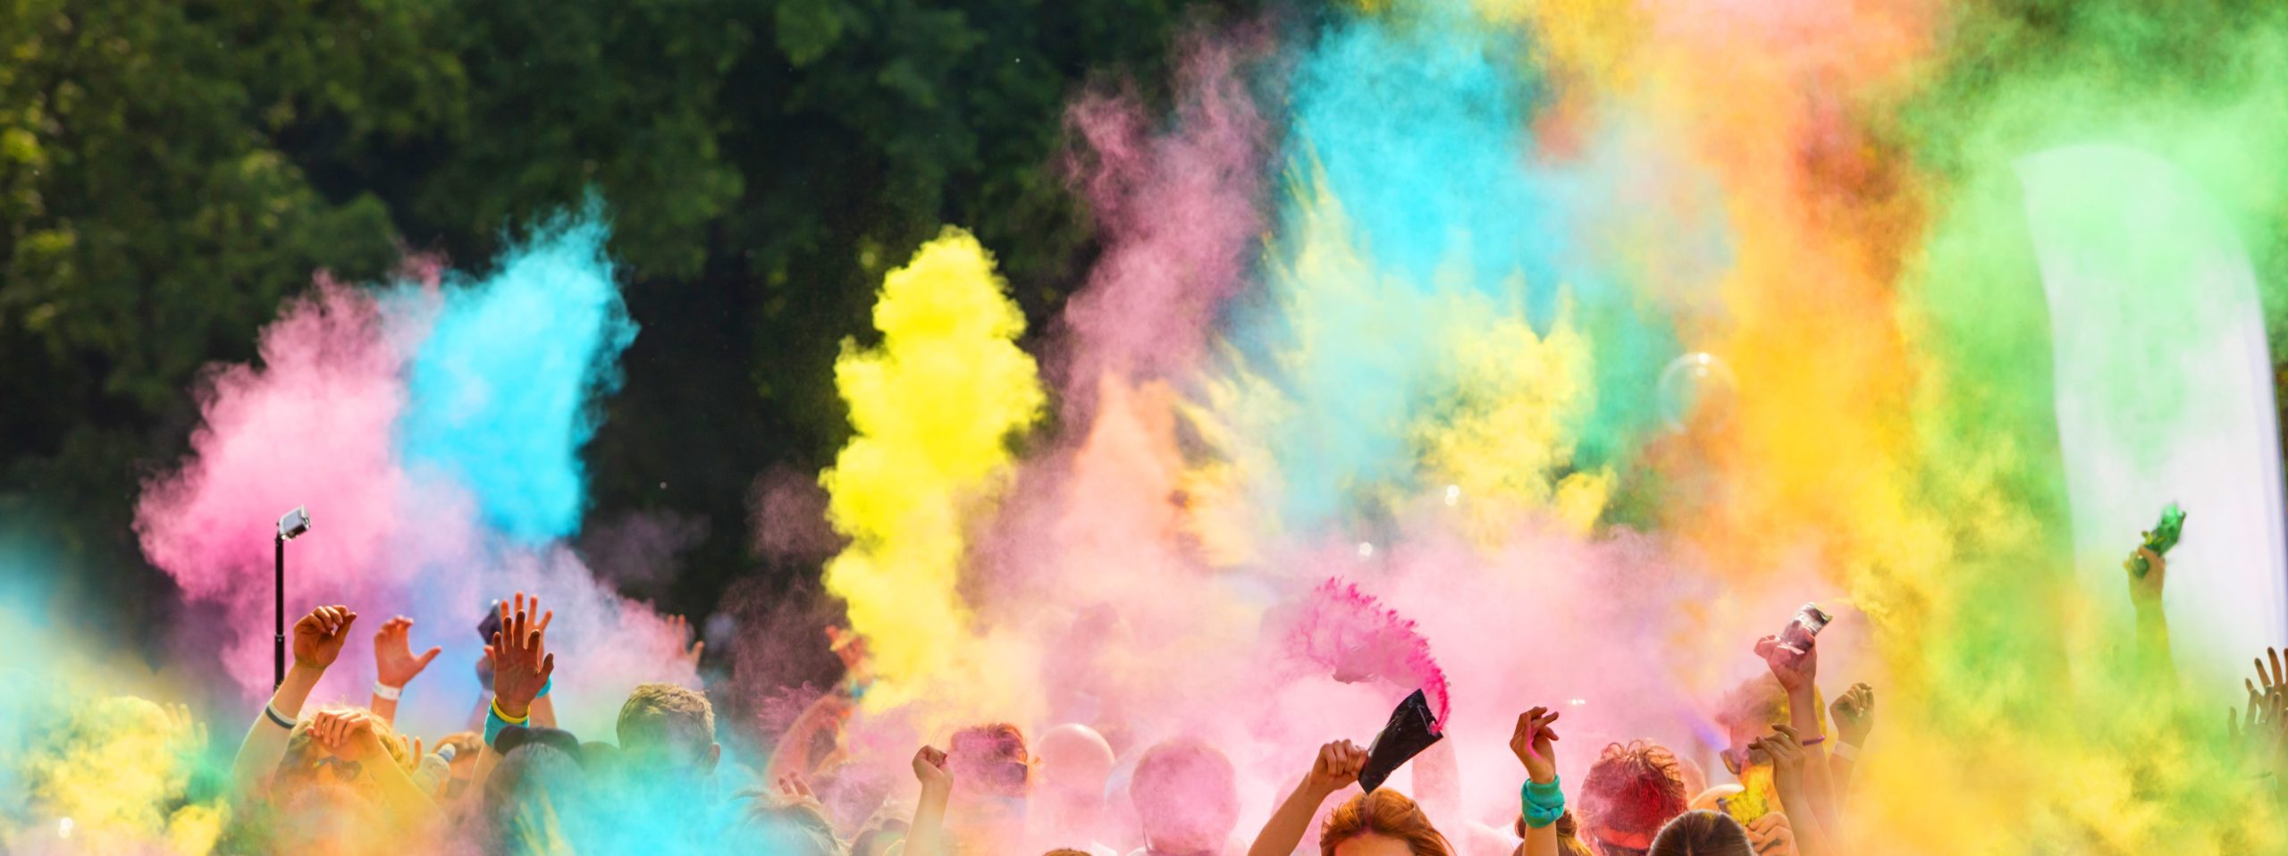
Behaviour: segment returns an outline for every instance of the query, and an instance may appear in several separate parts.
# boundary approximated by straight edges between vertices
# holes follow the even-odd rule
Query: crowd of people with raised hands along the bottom
[[[2151,552],[2139,558],[2153,565],[2132,574],[2132,600],[2146,613],[2167,565]],[[551,613],[522,593],[499,604],[485,648],[492,696],[480,730],[432,742],[394,730],[398,691],[437,657],[410,652],[405,618],[375,634],[368,707],[304,710],[357,618],[348,607],[318,607],[293,625],[293,668],[254,716],[231,769],[224,851],[1835,856],[1849,838],[1853,764],[1876,726],[1872,687],[1849,684],[1826,700],[1817,643],[1764,636],[1753,655],[1769,673],[1741,684],[1718,716],[1727,746],[1716,758],[1727,783],[1645,739],[1595,751],[1586,776],[1565,783],[1563,714],[1535,705],[1517,714],[1508,742],[1519,794],[1499,840],[1483,829],[1448,838],[1432,810],[1380,776],[1368,783],[1380,787],[1361,787],[1373,748],[1350,739],[1295,758],[1293,790],[1242,840],[1238,771],[1217,746],[1181,737],[1123,755],[1082,723],[1039,735],[1011,723],[961,728],[913,753],[911,783],[883,787],[858,810],[826,806],[812,787],[835,776],[835,732],[865,691],[865,639],[849,632],[831,643],[851,680],[785,728],[760,776],[741,776],[766,787],[732,792],[718,790],[723,748],[700,691],[636,687],[613,742],[554,728]],[[2167,645],[2158,618],[2146,627],[2146,650]],[[2279,723],[2279,659],[2272,671],[2258,664],[2258,675],[2263,687],[2249,682],[2249,710],[2235,728]],[[1421,792],[1453,787],[1439,780],[1453,776],[1451,758],[1435,758],[1416,762]]]

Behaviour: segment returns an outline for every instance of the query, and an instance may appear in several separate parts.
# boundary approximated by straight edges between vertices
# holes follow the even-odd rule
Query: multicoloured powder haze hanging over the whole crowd
[[[1066,114],[1103,254],[1046,346],[1020,348],[993,247],[947,227],[883,282],[879,346],[835,362],[853,439],[824,501],[764,497],[833,526],[762,522],[831,554],[824,591],[874,645],[851,780],[901,783],[917,742],[982,721],[1197,737],[1231,755],[1245,833],[1318,744],[1364,744],[1423,689],[1446,742],[1393,785],[1453,838],[1499,838],[1519,710],[1565,710],[1570,783],[1631,737],[1721,778],[1718,703],[1817,600],[1826,689],[1883,698],[1851,851],[2288,845],[2215,723],[2231,664],[2119,666],[2123,593],[2078,581],[2013,176],[2066,144],[2158,156],[2274,286],[2288,9],[1389,0],[1178,48],[1169,103],[1105,89]],[[137,529],[220,607],[245,698],[270,671],[249,581],[297,504],[318,533],[293,545],[295,609],[416,616],[416,648],[467,664],[487,597],[540,591],[581,735],[636,680],[696,680],[666,620],[565,547],[641,320],[602,245],[590,211],[485,277],[320,282],[259,366],[201,389],[194,453]],[[2224,323],[2155,318],[2105,375],[2135,385],[2146,348]],[[1663,389],[1686,352],[1721,371]],[[419,696],[416,732],[476,698]],[[119,726],[21,753],[0,783],[41,785],[11,817],[89,803],[69,771],[108,739],[176,739],[133,703],[48,719]],[[181,790],[153,776],[124,799]],[[192,845],[208,822],[103,817]]]

